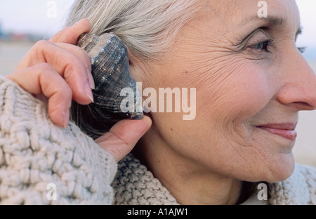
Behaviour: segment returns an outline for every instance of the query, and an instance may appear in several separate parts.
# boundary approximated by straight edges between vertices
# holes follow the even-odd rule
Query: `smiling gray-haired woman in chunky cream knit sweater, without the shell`
[[[316,77],[295,45],[296,2],[264,3],[268,11],[253,0],[77,0],[72,26],[0,79],[0,201],[316,204],[316,170],[292,154],[298,112],[316,107]],[[117,34],[143,88],[196,88],[195,119],[150,112],[95,142],[68,124],[72,100],[93,102],[77,46],[87,32]]]

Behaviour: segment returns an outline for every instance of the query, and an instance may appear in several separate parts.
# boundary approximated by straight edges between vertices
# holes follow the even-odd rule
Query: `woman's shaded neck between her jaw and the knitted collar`
[[[159,140],[151,138],[150,144],[142,140],[134,154],[179,204],[232,205],[239,201],[241,181],[211,171],[197,161],[183,157]]]

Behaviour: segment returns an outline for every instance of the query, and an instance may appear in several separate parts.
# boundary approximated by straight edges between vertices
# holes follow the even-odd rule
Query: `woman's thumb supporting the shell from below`
[[[115,161],[119,162],[133,150],[136,143],[150,129],[152,120],[144,117],[142,120],[126,119],[119,121],[109,133],[96,140],[96,143],[109,152]]]

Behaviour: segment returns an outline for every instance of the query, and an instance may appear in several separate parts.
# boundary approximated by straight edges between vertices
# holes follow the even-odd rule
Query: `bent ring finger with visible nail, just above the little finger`
[[[39,41],[25,59],[18,69],[47,62],[67,81],[72,89],[74,101],[81,105],[93,102],[86,65],[69,51],[49,41]]]

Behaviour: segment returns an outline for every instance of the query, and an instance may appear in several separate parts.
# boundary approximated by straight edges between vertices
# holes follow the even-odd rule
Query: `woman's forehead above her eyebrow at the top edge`
[[[266,3],[268,19],[258,17],[258,12],[264,6],[259,4],[259,0],[206,0],[206,2],[204,12],[208,17],[209,25],[214,27],[214,22],[217,22],[220,24],[219,29],[223,32],[249,25],[249,23],[260,25],[272,20],[283,22],[282,27],[295,31],[300,26],[300,15],[295,0],[262,1]]]

